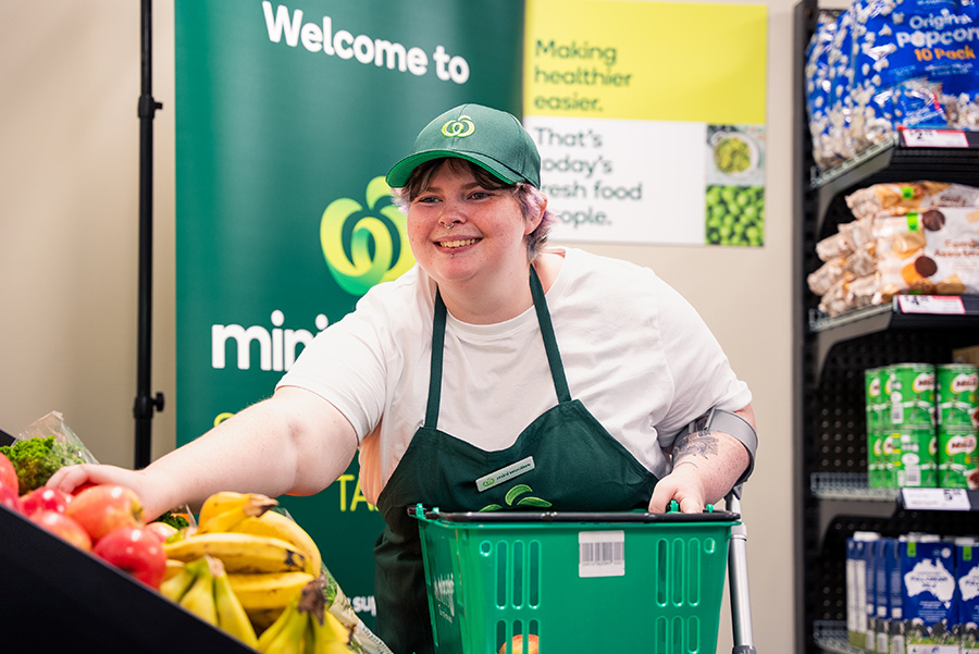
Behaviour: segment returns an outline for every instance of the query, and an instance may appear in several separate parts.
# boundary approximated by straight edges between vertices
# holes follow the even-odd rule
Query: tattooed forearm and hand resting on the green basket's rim
[[[754,429],[752,405],[734,411]],[[673,444],[673,469],[659,480],[649,499],[652,513],[664,513],[676,499],[680,510],[695,514],[721,501],[747,470],[751,457],[741,441],[718,431],[683,434]]]

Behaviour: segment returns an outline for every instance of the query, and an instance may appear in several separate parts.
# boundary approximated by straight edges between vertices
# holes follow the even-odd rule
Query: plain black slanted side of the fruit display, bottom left
[[[0,631],[11,652],[255,654],[5,506],[0,506]]]

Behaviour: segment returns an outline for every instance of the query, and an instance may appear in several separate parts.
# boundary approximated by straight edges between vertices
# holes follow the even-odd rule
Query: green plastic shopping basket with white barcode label
[[[439,654],[716,651],[738,514],[409,514]]]

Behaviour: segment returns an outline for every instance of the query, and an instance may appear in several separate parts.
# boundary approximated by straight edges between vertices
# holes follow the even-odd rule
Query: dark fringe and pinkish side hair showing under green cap
[[[420,164],[411,171],[408,181],[405,182],[405,186],[392,189],[394,202],[405,215],[408,215],[408,206],[411,201],[429,188],[429,185],[432,183],[432,177],[435,176],[435,173],[437,173],[443,165],[447,165],[455,171],[468,171],[480,186],[488,190],[507,190],[511,193],[517,199],[517,203],[520,205],[520,211],[523,214],[524,220],[530,220],[531,217],[540,213],[541,209],[547,205],[547,196],[532,184],[528,184],[526,182],[507,184],[486,169],[468,159],[443,157]],[[553,225],[554,214],[550,211],[545,210],[541,224],[537,225],[536,230],[526,235],[528,261],[536,259],[537,255],[541,254],[541,250],[544,249],[544,245],[547,243],[547,235],[550,233],[550,227]]]

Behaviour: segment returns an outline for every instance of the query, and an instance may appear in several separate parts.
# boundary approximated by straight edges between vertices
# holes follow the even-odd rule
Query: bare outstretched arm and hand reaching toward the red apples
[[[336,407],[284,386],[142,470],[69,466],[48,485],[69,492],[85,482],[126,485],[152,519],[184,504],[199,507],[218,491],[311,495],[333,483],[356,452],[354,428]]]

